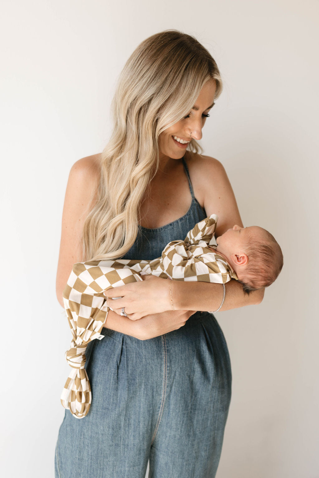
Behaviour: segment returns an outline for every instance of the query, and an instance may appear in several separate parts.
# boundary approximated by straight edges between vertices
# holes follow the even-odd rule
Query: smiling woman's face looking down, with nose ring
[[[216,83],[211,79],[200,90],[196,103],[187,117],[160,134],[158,142],[160,160],[165,157],[182,158],[188,142],[191,139],[200,140],[202,138],[202,128],[209,116],[209,110],[213,107],[215,91]],[[190,137],[190,135],[192,136]]]

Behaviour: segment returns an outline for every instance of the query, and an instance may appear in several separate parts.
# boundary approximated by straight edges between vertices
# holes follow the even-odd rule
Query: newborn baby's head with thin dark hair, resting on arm
[[[273,283],[283,267],[279,244],[270,232],[258,226],[235,225],[216,242],[217,252],[225,256],[246,293]]]

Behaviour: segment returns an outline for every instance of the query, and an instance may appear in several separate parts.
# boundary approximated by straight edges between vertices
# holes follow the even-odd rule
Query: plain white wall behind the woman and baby
[[[70,167],[107,142],[133,49],[176,28],[224,78],[205,153],[224,164],[244,224],[269,229],[285,257],[261,305],[217,314],[233,371],[217,476],[319,477],[318,13],[316,0],[4,1],[3,476],[54,476],[70,341],[55,273]]]

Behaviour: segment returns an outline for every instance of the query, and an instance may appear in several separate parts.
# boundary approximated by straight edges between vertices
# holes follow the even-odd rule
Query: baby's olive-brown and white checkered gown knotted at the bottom
[[[63,291],[63,300],[72,333],[67,363],[72,367],[64,386],[61,403],[72,415],[83,418],[91,404],[91,388],[84,368],[88,343],[100,336],[109,312],[103,292],[129,282],[142,281],[140,274],[153,274],[176,281],[225,283],[237,279],[229,264],[208,248],[216,246],[214,237],[218,217],[200,221],[185,241],[167,244],[160,258],[144,260],[87,261],[74,264]],[[101,337],[99,337],[101,338]]]

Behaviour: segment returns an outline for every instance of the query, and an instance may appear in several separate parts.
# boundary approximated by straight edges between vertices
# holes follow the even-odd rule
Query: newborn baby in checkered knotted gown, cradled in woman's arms
[[[104,338],[100,332],[109,312],[103,294],[106,290],[142,281],[143,274],[222,284],[233,278],[242,282],[246,293],[274,282],[283,259],[273,236],[256,226],[234,226],[216,241],[217,220],[212,214],[200,221],[185,240],[169,242],[162,256],[152,261],[117,259],[74,264],[63,291],[72,332],[66,360],[72,371],[61,395],[62,405],[73,416],[83,418],[89,411],[91,389],[85,370],[85,351],[90,341]]]

